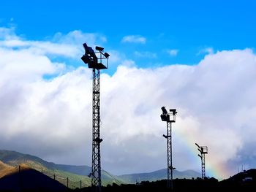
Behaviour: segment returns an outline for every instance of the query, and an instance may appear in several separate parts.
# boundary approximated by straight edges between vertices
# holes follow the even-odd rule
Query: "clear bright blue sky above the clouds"
[[[80,30],[104,35],[105,50],[119,50],[151,67],[197,64],[203,50],[253,48],[255,1],[4,1],[1,25],[27,39]],[[145,42],[121,43],[127,35]],[[177,50],[177,55],[168,54]],[[135,52],[143,53],[140,56]],[[150,59],[148,59],[148,57]],[[153,64],[154,63],[154,64]]]

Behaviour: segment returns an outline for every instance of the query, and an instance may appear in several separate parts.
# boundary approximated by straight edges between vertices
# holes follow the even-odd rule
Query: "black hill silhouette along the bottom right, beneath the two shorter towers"
[[[252,192],[256,191],[255,183],[255,170],[250,169],[244,173],[239,173],[230,177],[227,180],[219,182],[214,177],[205,180],[201,178],[197,179],[175,179],[173,180],[173,192],[184,192],[184,191],[197,191],[197,192],[208,192],[208,191],[243,191]],[[249,178],[249,179],[248,179]],[[91,188],[83,188],[83,192],[91,191]],[[108,185],[102,188],[102,192],[143,192],[143,191],[154,191],[154,192],[170,192],[171,189],[167,188],[167,180],[158,180],[154,182],[143,181],[141,183],[127,184],[127,185]]]

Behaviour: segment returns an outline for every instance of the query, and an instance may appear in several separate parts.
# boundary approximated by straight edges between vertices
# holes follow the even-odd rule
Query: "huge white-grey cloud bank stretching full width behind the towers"
[[[1,44],[0,55],[1,148],[91,165],[91,70],[63,72],[65,64],[30,47]],[[102,73],[102,168],[125,174],[166,166],[162,106],[178,111],[176,169],[200,171],[195,142],[208,146],[207,171],[227,168],[209,176],[229,177],[241,163],[253,166],[255,72],[256,55],[246,49],[206,55],[195,66],[140,69],[126,61],[113,75]],[[57,75],[48,80],[45,74]]]

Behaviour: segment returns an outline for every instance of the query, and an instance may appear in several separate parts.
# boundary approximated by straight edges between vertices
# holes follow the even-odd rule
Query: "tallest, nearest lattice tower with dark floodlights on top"
[[[101,191],[101,165],[100,165],[100,70],[108,69],[108,53],[103,53],[103,47],[96,46],[97,52],[83,44],[85,54],[82,60],[92,69],[92,164],[91,164],[91,187],[94,191]],[[105,60],[105,64],[102,61]]]

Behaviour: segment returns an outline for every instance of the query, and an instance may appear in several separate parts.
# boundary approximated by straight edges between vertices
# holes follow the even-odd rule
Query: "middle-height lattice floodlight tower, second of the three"
[[[167,123],[167,134],[163,134],[162,136],[167,139],[167,188],[171,188],[173,191],[173,159],[172,159],[172,128],[171,123],[176,122],[176,109],[171,109],[168,113],[165,107],[161,107],[162,114],[160,115],[162,121],[166,121]]]

